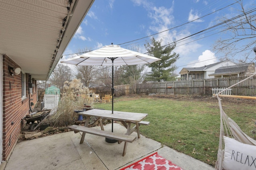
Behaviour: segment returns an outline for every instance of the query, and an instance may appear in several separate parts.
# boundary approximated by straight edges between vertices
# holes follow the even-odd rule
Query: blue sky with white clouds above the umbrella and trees
[[[184,67],[216,63],[224,56],[217,54],[213,45],[218,39],[225,37],[225,33],[220,32],[220,27],[198,32],[219,23],[219,19],[224,16],[232,18],[237,15],[239,4],[229,6],[234,2],[235,0],[95,0],[63,58],[74,57],[71,54],[99,49],[111,43],[130,50],[138,47],[138,52],[146,53],[144,44],[150,42],[150,35],[154,35],[156,40],[163,39],[162,45],[177,41],[174,52],[180,55],[180,59],[175,63],[178,67],[176,73]],[[244,0],[244,6],[250,6],[253,2]],[[195,33],[198,34],[188,37]],[[185,37],[188,38],[184,39]],[[252,55],[254,57],[254,53]]]

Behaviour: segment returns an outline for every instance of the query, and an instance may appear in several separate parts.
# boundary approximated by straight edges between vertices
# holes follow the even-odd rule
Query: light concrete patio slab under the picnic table
[[[111,131],[111,124],[104,126],[104,129]],[[126,129],[114,123],[114,131],[124,134]],[[136,136],[137,133],[132,135]],[[125,156],[122,156],[124,143],[106,143],[103,137],[86,134],[84,143],[79,144],[80,138],[80,133],[70,131],[22,141],[16,145],[5,170],[118,170],[154,152],[184,170],[214,170],[204,162],[162,146],[143,135],[133,143],[128,143]]]

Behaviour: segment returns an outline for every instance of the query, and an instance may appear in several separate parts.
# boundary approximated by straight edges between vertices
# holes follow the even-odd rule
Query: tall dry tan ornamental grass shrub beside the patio
[[[53,126],[68,126],[75,123],[78,119],[75,110],[82,110],[84,104],[92,106],[89,102],[90,90],[83,86],[80,79],[74,79],[71,82],[64,82],[61,100],[58,104],[58,110],[48,121]]]

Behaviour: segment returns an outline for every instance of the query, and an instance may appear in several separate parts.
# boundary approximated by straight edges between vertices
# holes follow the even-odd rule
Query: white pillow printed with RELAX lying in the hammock
[[[224,136],[224,170],[256,170],[256,146]]]

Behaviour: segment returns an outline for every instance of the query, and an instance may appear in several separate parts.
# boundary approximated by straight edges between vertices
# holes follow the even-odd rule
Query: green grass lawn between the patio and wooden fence
[[[255,102],[252,100],[222,99],[225,113],[248,136],[256,120]],[[94,104],[94,108],[111,110],[111,103]],[[140,126],[142,135],[207,164],[215,166],[220,135],[218,100],[212,97],[148,98],[120,97],[114,99],[114,110],[148,113],[148,126]]]

